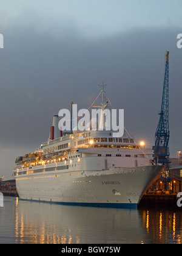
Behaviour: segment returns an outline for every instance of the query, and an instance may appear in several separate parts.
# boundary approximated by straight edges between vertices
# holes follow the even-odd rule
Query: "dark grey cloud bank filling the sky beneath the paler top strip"
[[[0,52],[0,143],[18,149],[11,153],[13,158],[25,145],[32,150],[46,141],[52,116],[70,108],[71,101],[79,108],[89,107],[103,81],[113,107],[124,108],[127,130],[148,138],[152,146],[166,50],[170,51],[170,146],[175,155],[182,142],[177,136],[182,125],[177,27],[130,29],[91,40],[72,23],[67,30],[50,33],[48,27],[35,24],[27,29],[15,23],[6,29]]]

